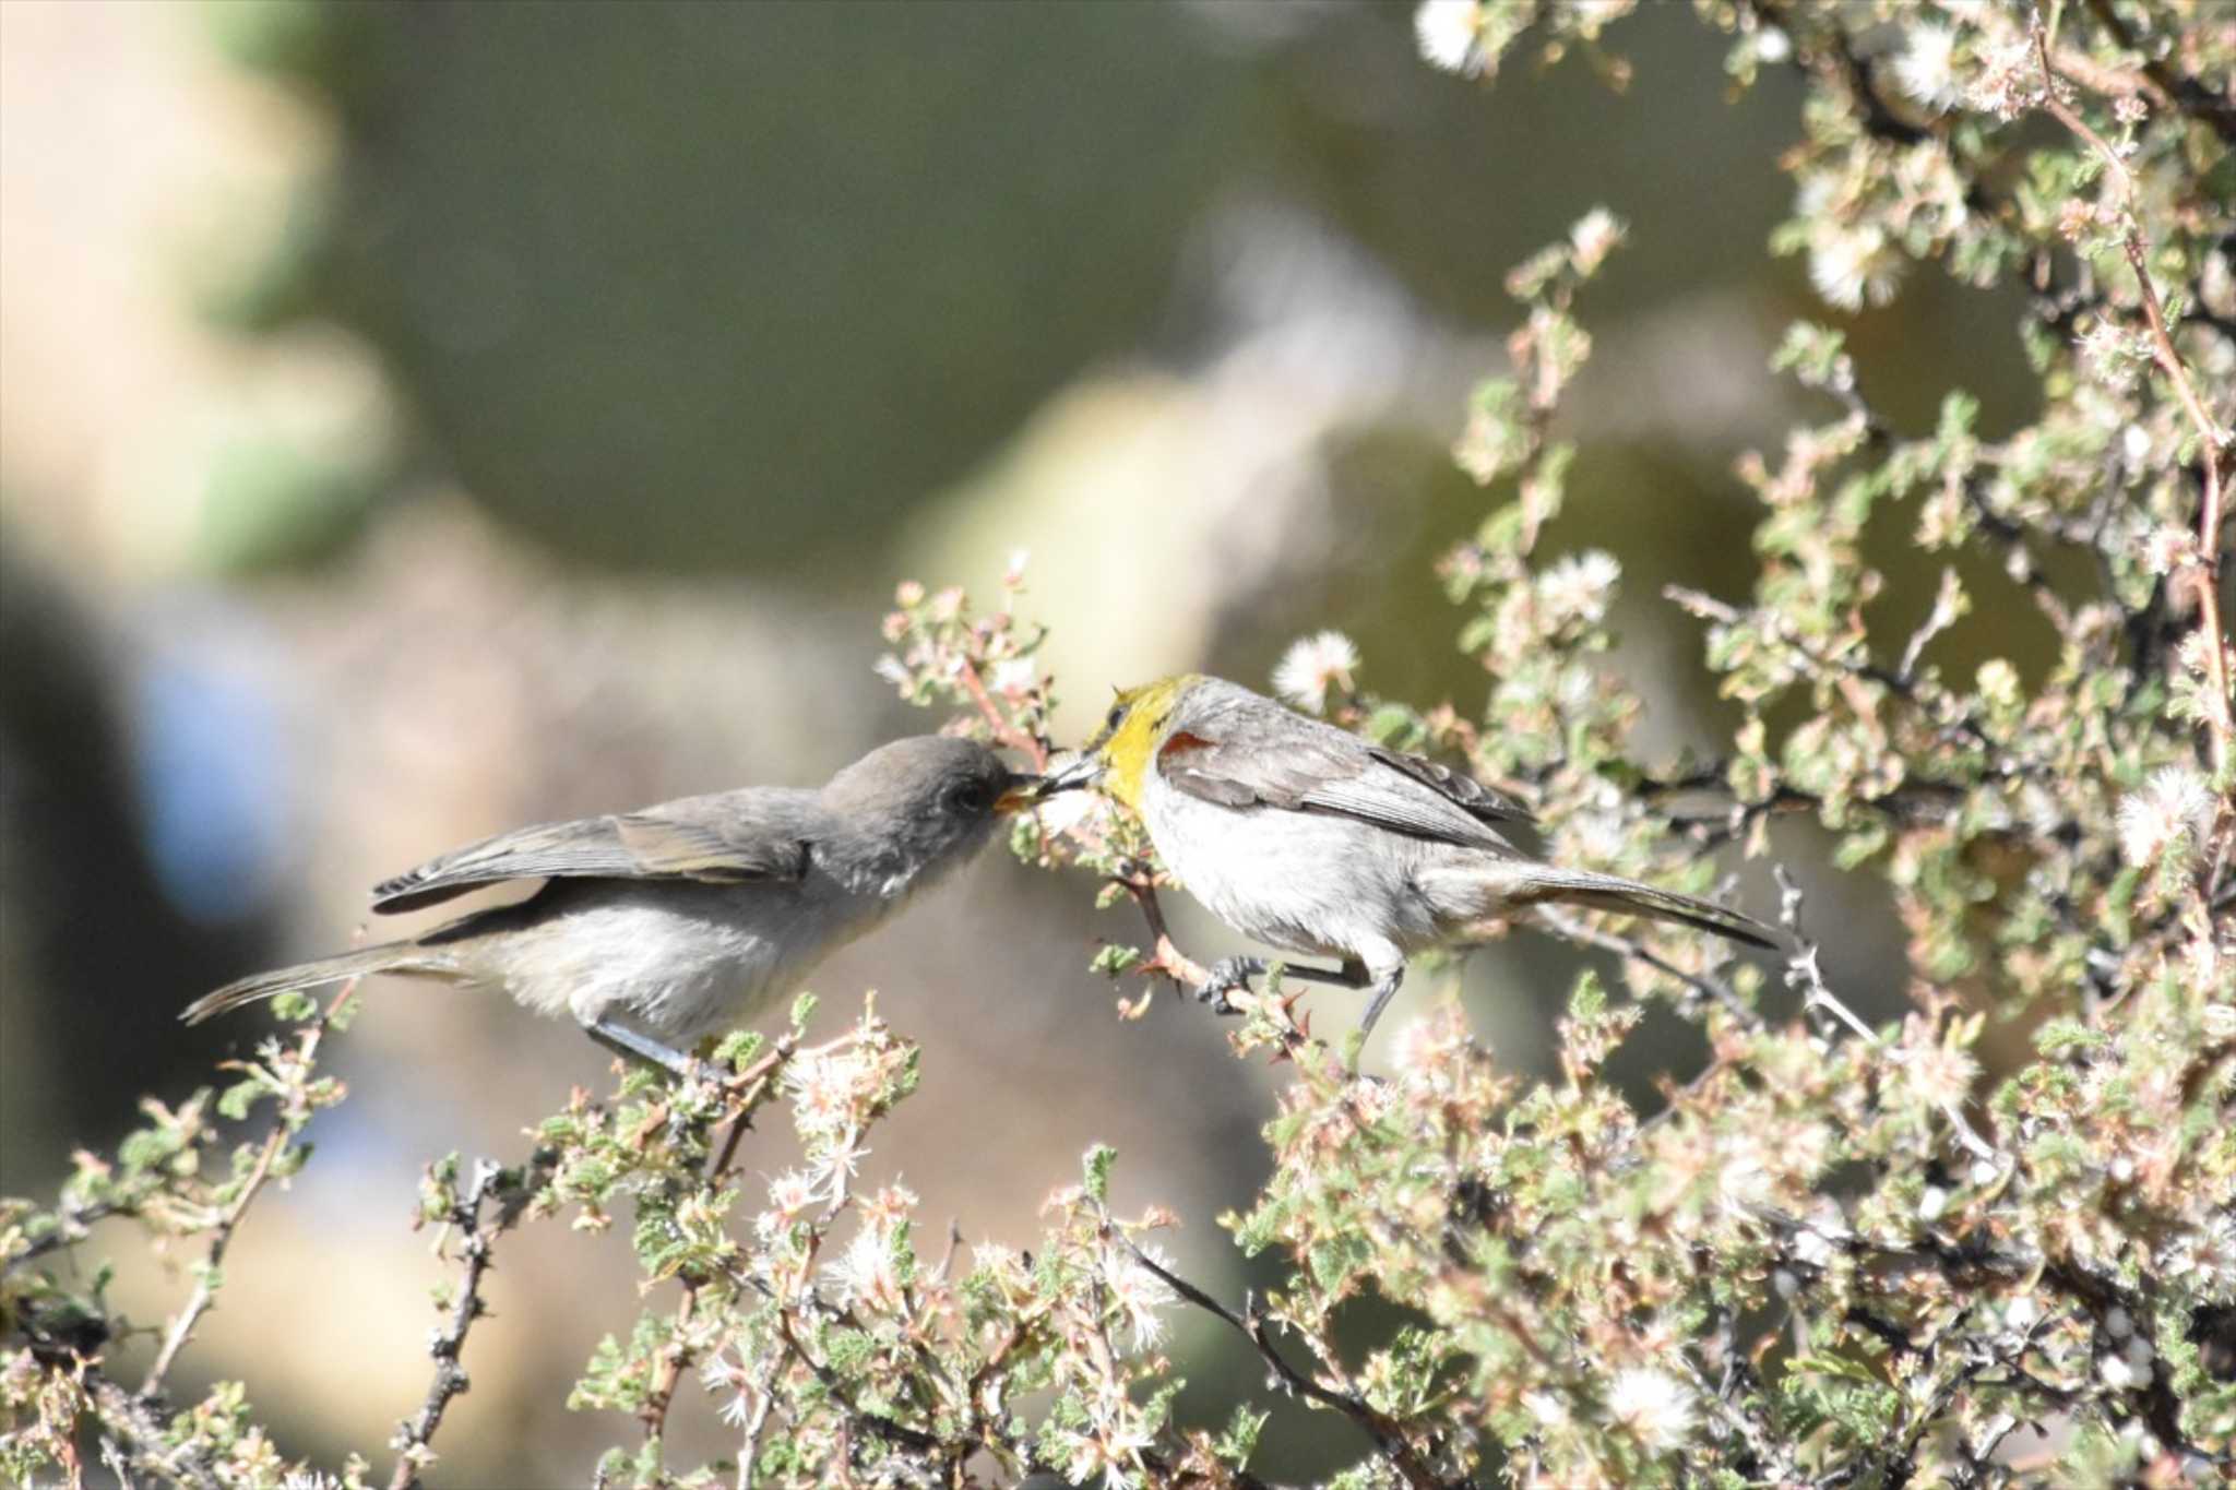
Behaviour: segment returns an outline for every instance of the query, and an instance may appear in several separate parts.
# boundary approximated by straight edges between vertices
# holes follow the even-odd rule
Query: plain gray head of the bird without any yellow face
[[[841,824],[823,853],[841,878],[877,894],[917,889],[986,847],[1004,815],[1033,804],[1038,784],[975,739],[894,739],[818,793]]]

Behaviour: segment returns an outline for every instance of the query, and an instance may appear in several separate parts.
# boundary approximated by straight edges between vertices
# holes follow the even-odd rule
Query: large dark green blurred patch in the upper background
[[[606,563],[890,527],[1154,319],[1248,134],[1181,9],[212,11],[342,139],[228,313],[338,315],[481,500]]]

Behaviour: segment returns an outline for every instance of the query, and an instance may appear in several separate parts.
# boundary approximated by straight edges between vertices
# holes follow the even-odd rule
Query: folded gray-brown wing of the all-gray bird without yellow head
[[[416,911],[503,880],[796,880],[812,793],[747,789],[637,813],[539,822],[454,849],[373,887],[373,909]]]

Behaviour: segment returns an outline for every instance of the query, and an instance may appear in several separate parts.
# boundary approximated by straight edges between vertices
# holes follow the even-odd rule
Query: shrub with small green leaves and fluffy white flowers
[[[1601,40],[1630,7],[1429,0],[1424,56],[1489,78],[1523,42]],[[1304,708],[1465,762],[1532,804],[1547,853],[1708,889],[1713,851],[1771,858],[1807,815],[1836,862],[1885,880],[1907,934],[1912,1010],[1860,1021],[1827,981],[1780,867],[1791,958],[1766,974],[1688,932],[1572,920],[1617,952],[1621,994],[1583,976],[1558,1077],[1523,1081],[1456,1007],[1391,1032],[1362,1077],[1275,978],[1237,994],[1239,1057],[1292,1074],[1266,1126],[1272,1175],[1223,1226],[1279,1260],[1261,1298],[1181,1278],[1163,1213],[1109,1211],[1109,1150],[1049,1202],[1026,1255],[921,1251],[917,1202],[856,1184],[856,1155],[915,1081],[874,1010],[812,1034],[733,1037],[727,1074],[644,1072],[577,1097],[517,1168],[427,1177],[461,1282],[443,1300],[427,1401],[391,1486],[436,1463],[476,1282],[499,1235],[626,1213],[655,1305],[608,1338],[572,1403],[635,1419],[601,1483],[1257,1486],[1263,1407],[1176,1410],[1176,1311],[1237,1331],[1263,1394],[1351,1430],[1339,1486],[1588,1483],[2205,1483],[2236,1443],[2236,789],[2216,592],[2236,402],[2236,194],[2227,190],[2236,27],[2198,0],[2055,7],[1706,0],[1746,87],[1809,80],[1787,154],[1804,255],[1836,308],[1883,304],[1923,261],[2017,281],[2039,373],[2035,420],[2001,440],[1948,389],[1932,429],[1889,424],[1838,331],[1796,326],[1778,366],[1825,422],[1746,456],[1762,503],[1746,596],[1673,592],[1742,719],[1715,760],[1626,753],[1637,699],[1599,666],[1619,565],[1543,554],[1574,447],[1563,391],[1592,342],[1576,299],[1623,226],[1594,210],[1509,275],[1512,371],[1478,391],[1458,462],[1496,505],[1442,563],[1460,646],[1489,675],[1467,708],[1362,688],[1371,659],[1301,641],[1275,675]],[[1874,608],[1863,538],[1901,525],[1950,556],[1925,614]],[[1986,552],[2059,639],[2041,677],[1954,677],[1936,643],[1981,601],[1954,565]],[[2084,565],[2062,563],[2073,554]],[[2075,576],[2075,579],[2062,579]],[[906,585],[881,672],[910,699],[1046,764],[1051,679],[1017,619],[1022,579],[975,610]],[[2003,601],[1997,601],[2003,603]],[[1013,849],[1100,885],[1098,967],[1134,1014],[1203,970],[1167,936],[1138,824],[1087,797],[1020,820]],[[1140,925],[1143,932],[1131,927]],[[347,999],[347,996],[344,996]],[[1666,1104],[1605,1081],[1648,1003],[1706,1037]],[[295,1010],[306,1014],[309,1010]],[[172,1483],[280,1483],[295,1470],[239,1387],[163,1396],[168,1363],[219,1287],[226,1240],[297,1135],[340,1099],[313,1057],[333,1014],[271,1041],[226,1095],[80,1157],[54,1206],[0,1211],[0,1468],[74,1477],[87,1452]],[[1986,1077],[1983,1030],[2030,1041]],[[268,1117],[266,1117],[268,1115]],[[803,1166],[731,1168],[747,1119],[789,1121]],[[266,1137],[208,1159],[248,1121]],[[105,1217],[206,1238],[206,1267],[139,1387],[103,1349],[92,1284],[45,1267]],[[1355,1300],[1391,1320],[1359,1338]],[[671,1463],[680,1389],[738,1434],[718,1465]],[[369,1483],[358,1459],[331,1483]]]

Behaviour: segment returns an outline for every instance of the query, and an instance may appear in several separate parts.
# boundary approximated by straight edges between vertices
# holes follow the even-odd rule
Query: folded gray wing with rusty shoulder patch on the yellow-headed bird
[[[1487,786],[1272,706],[1212,710],[1156,755],[1167,784],[1221,806],[1339,813],[1413,838],[1509,853],[1491,822],[1523,820]]]

